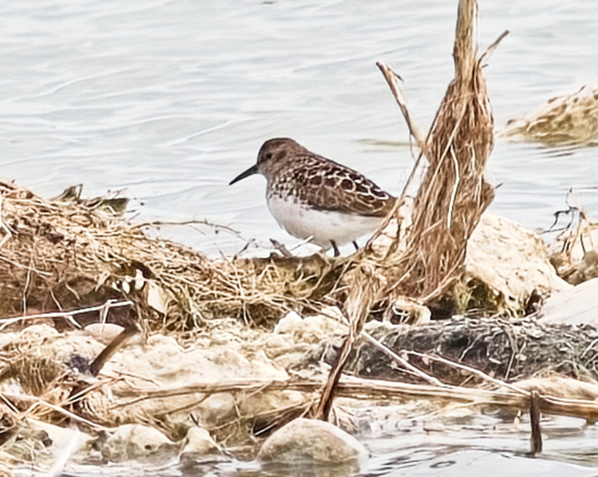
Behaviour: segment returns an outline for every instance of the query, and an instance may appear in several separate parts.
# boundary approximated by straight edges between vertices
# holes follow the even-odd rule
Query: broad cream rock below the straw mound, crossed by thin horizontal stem
[[[167,416],[174,423],[188,419],[190,412],[205,426],[225,426],[236,418],[235,399],[230,393],[210,396],[193,392],[194,384],[224,381],[286,380],[285,369],[274,363],[264,352],[266,345],[244,345],[234,337],[222,345],[182,348],[172,340],[154,335],[146,344],[131,345],[115,353],[102,372],[106,375],[127,375],[127,381],[111,385],[113,402],[102,406],[110,417],[106,419],[130,422],[136,415]],[[138,389],[173,390],[169,396],[118,406],[130,402],[130,386]],[[177,392],[185,387],[189,392]],[[275,395],[279,393],[273,393]],[[286,399],[285,399],[286,402]]]

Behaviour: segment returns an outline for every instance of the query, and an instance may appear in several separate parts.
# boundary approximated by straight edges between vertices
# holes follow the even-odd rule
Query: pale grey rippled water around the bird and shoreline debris
[[[407,128],[374,63],[404,78],[426,130],[453,74],[456,3],[3,0],[2,175],[46,197],[80,182],[87,196],[123,189],[143,220],[208,219],[239,231],[164,231],[210,253],[246,239],[292,245],[267,212],[264,179],[228,181],[264,140],[289,136],[398,192],[411,167]],[[480,4],[482,48],[511,30],[486,69],[499,126],[598,82],[595,0]],[[595,156],[498,143],[492,210],[546,228],[575,187],[598,215]],[[392,461],[389,448],[376,458]],[[492,469],[502,454],[489,448],[462,448],[440,475],[474,475],[472,462],[475,472]],[[425,475],[429,463],[413,460],[410,473]],[[569,465],[529,462],[510,458],[509,469],[561,475]]]

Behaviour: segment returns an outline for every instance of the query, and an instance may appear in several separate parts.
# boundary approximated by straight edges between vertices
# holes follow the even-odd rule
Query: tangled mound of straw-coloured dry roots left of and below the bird
[[[214,317],[261,322],[321,298],[335,284],[338,270],[319,255],[213,260],[151,237],[151,224],[132,224],[82,201],[47,201],[9,182],[0,182],[0,194],[2,316],[127,298],[133,306],[112,309],[112,322],[137,320],[151,329],[184,329]],[[97,321],[97,311],[77,319]]]

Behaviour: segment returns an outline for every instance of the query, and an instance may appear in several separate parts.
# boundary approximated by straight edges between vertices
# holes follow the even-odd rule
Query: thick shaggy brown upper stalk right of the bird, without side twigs
[[[473,32],[477,2],[460,0],[451,81],[423,144],[428,167],[414,202],[407,247],[387,259],[397,294],[430,301],[457,276],[466,243],[493,198],[484,167],[493,146],[493,119]]]

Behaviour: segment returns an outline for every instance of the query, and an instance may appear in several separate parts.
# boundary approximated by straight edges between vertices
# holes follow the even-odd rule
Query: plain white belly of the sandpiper
[[[312,242],[324,249],[330,248],[332,240],[340,247],[373,233],[382,222],[379,217],[309,209],[276,195],[267,197],[267,203],[280,227],[299,239],[313,237]]]

